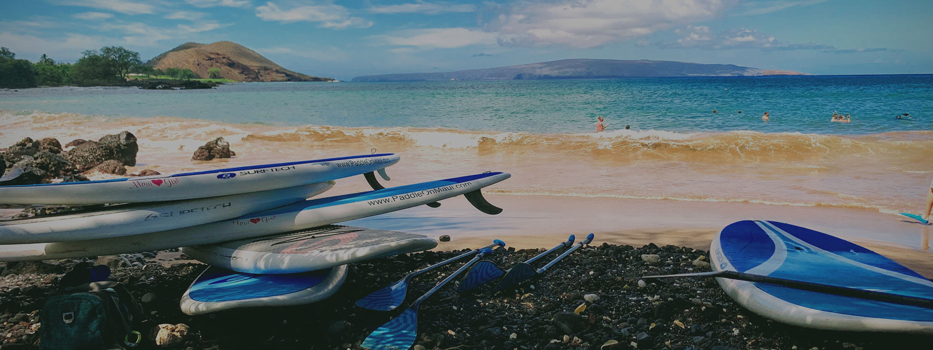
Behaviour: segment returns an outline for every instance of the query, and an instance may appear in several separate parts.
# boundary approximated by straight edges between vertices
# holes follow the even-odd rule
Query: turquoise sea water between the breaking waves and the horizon
[[[582,133],[865,134],[933,129],[933,76],[668,77],[401,83],[241,83],[204,91],[0,91],[0,109],[233,123]],[[718,113],[712,113],[716,109]],[[741,110],[742,113],[738,113]],[[762,122],[765,112],[770,122]],[[829,122],[833,111],[852,123]],[[895,116],[909,113],[909,119]]]

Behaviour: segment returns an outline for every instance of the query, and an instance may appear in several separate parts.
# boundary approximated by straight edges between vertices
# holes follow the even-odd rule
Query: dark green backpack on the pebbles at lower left
[[[142,306],[117,282],[68,287],[42,307],[39,348],[106,349],[128,338],[133,338],[128,344],[138,343],[139,333],[132,331],[132,322],[142,319],[142,314]]]

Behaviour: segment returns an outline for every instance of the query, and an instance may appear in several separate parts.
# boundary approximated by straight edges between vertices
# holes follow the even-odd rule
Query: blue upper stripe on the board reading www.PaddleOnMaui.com
[[[366,192],[357,192],[357,193],[344,194],[340,196],[308,200],[308,201],[304,201],[301,203],[285,205],[280,208],[268,210],[265,212],[250,214],[250,215],[238,217],[238,218],[268,217],[272,215],[298,212],[304,209],[323,208],[327,206],[340,205],[340,204],[345,204],[345,203],[356,203],[356,202],[363,202],[363,201],[369,201],[369,200],[376,200],[376,199],[381,199],[384,197],[411,193],[411,192],[425,190],[425,189],[442,188],[445,186],[451,186],[451,185],[469,182],[472,180],[499,175],[499,174],[502,174],[502,173],[485,173],[485,174],[478,174],[478,175],[460,176],[460,177],[453,177],[453,178],[448,178],[444,180],[422,182],[420,184],[399,186],[399,187],[389,188],[389,189],[376,189],[376,190],[369,190]]]

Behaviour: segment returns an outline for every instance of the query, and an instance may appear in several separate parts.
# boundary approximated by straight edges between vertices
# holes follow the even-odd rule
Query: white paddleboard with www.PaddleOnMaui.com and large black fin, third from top
[[[70,259],[179,246],[210,245],[371,217],[461,194],[468,194],[467,199],[474,206],[491,211],[490,209],[498,208],[482,200],[480,189],[505,180],[509,176],[511,175],[507,173],[484,173],[313,199],[244,217],[127,237],[31,245],[0,245],[0,261]],[[498,210],[501,211],[501,209]]]

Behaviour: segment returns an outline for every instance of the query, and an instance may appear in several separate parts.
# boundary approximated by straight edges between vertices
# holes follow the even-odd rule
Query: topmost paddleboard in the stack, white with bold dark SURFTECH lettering
[[[175,175],[0,187],[4,204],[104,204],[187,200],[282,189],[381,170],[391,153],[293,161]]]

